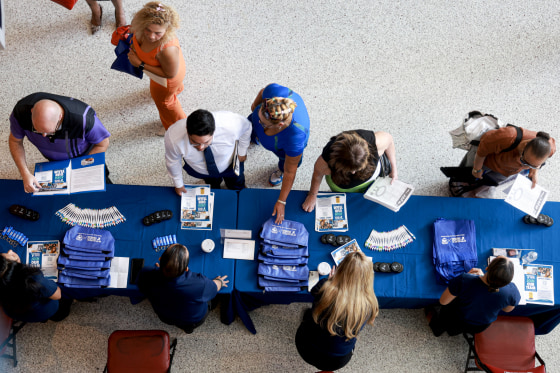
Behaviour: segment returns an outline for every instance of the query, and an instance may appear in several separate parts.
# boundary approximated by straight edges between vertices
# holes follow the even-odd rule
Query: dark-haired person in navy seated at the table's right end
[[[430,328],[436,337],[443,332],[454,336],[484,331],[498,318],[500,311],[511,312],[521,296],[513,279],[513,263],[498,256],[486,267],[473,268],[449,281],[439,299],[439,305],[430,307]],[[441,305],[441,306],[440,306]]]

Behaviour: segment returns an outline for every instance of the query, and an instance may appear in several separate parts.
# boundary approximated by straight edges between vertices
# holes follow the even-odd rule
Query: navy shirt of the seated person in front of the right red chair
[[[471,325],[487,325],[496,321],[503,308],[517,306],[521,299],[513,283],[492,293],[479,276],[468,273],[452,278],[449,292],[457,297],[463,320]]]

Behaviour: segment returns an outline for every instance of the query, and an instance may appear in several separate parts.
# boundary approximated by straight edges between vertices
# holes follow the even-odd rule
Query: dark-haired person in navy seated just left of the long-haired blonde
[[[148,297],[161,321],[190,334],[204,323],[210,301],[229,280],[227,276],[210,280],[189,271],[189,251],[181,244],[169,246],[160,263],[140,271],[138,289]]]

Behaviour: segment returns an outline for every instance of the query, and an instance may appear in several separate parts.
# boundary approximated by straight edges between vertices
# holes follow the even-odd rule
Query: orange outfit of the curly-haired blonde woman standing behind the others
[[[154,48],[146,53],[142,50],[142,48],[140,48],[140,44],[138,43],[138,40],[136,40],[136,35],[132,38],[132,42],[134,43],[136,55],[142,62],[151,66],[161,66],[159,61],[156,59],[156,55],[159,53],[160,48]],[[178,39],[171,40],[169,43],[163,45],[161,49],[168,47],[179,48],[179,70],[177,71],[177,75],[171,79],[167,79],[167,87],[164,87],[150,79],[150,93],[156,107],[158,108],[159,117],[165,129],[171,127],[171,125],[179,119],[185,119],[187,117],[181,107],[181,103],[177,99],[177,95],[183,92],[183,89],[185,88],[183,84],[186,73],[185,58],[183,57],[183,52],[179,46]]]

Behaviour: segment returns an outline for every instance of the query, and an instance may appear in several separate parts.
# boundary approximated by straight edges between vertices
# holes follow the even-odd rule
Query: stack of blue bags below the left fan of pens
[[[64,235],[58,257],[58,283],[66,287],[102,288],[109,286],[115,239],[111,232],[80,225]]]

